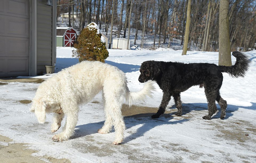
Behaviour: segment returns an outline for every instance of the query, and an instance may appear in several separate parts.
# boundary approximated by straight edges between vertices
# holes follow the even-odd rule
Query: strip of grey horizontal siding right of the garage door
[[[37,1],[37,74],[45,73],[45,65],[52,65],[52,6]]]

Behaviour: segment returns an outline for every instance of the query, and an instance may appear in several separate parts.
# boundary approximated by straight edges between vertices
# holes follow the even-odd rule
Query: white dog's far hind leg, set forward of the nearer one
[[[106,100],[105,100],[105,96],[104,96],[104,92],[102,91],[102,102],[103,102],[103,107],[104,107],[104,111],[105,111],[105,116],[106,116],[106,120],[104,125],[102,126],[102,128],[100,128],[98,130],[99,134],[108,134],[111,130],[112,130],[112,117],[111,114],[108,110],[106,110]]]

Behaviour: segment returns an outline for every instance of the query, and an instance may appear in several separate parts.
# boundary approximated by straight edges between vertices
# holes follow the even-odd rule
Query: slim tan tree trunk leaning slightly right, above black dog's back
[[[184,39],[182,55],[187,55],[189,26],[190,26],[190,12],[191,12],[191,0],[188,0],[187,21],[186,21],[185,39]]]

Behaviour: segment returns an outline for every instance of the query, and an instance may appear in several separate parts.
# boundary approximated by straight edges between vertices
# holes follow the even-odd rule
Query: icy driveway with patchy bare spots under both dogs
[[[79,114],[75,136],[65,142],[52,142],[51,115],[38,124],[29,112],[39,84],[0,82],[0,135],[15,142],[29,143],[34,156],[67,158],[71,162],[255,162],[255,103],[242,107],[228,105],[227,117],[203,120],[207,103],[184,103],[181,117],[173,101],[161,118],[151,119],[157,108],[123,106],[125,139],[115,146],[114,131],[101,135],[104,122],[101,94],[84,105]],[[132,87],[129,85],[129,87]],[[193,98],[195,99],[195,98]],[[154,103],[159,98],[149,99]],[[158,102],[155,102],[158,105]],[[136,105],[143,106],[143,103]],[[219,109],[219,106],[218,106]],[[64,123],[64,122],[63,122]],[[61,131],[61,128],[60,128]],[[57,132],[60,132],[57,131]]]

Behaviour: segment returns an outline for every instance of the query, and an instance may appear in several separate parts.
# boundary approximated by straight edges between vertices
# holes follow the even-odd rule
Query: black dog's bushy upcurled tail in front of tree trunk
[[[219,66],[221,72],[227,72],[232,77],[244,77],[246,71],[249,69],[249,63],[251,62],[249,57],[238,51],[234,51],[232,55],[236,57],[236,63],[232,66]]]

